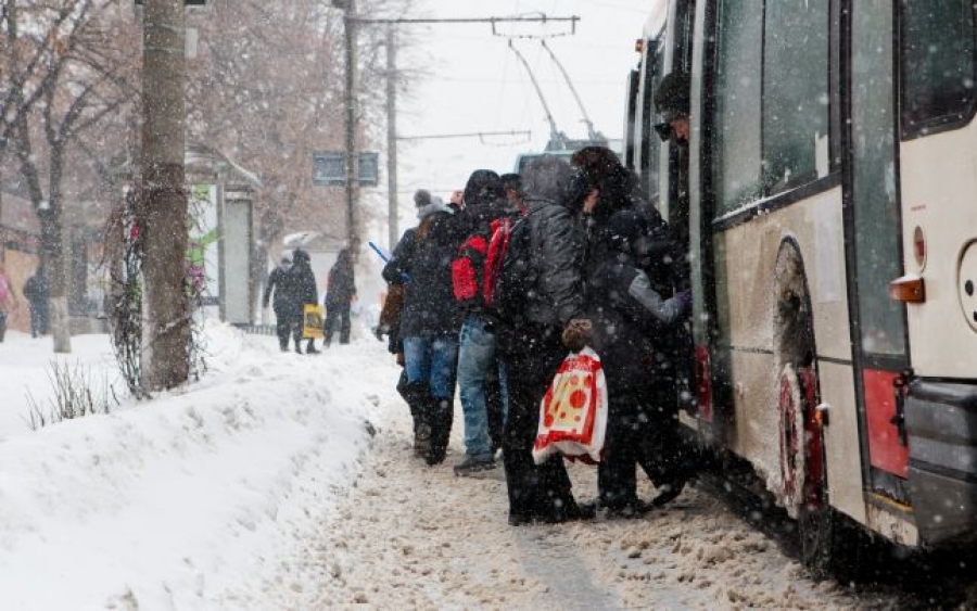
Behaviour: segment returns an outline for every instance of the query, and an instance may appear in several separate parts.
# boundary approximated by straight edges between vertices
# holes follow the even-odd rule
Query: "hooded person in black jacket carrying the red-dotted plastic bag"
[[[568,349],[583,348],[591,329],[584,309],[586,236],[576,221],[581,198],[572,193],[573,174],[567,162],[544,155],[522,175],[531,287],[524,315],[502,321],[497,333],[509,382],[503,459],[511,525],[593,517],[573,498],[560,456],[540,466],[532,457],[540,402]]]

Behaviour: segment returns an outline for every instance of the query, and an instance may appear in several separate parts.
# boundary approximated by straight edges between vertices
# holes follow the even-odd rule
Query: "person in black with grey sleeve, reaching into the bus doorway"
[[[588,262],[587,275],[592,345],[600,355],[609,400],[598,498],[610,514],[634,518],[652,507],[637,497],[637,462],[646,453],[674,450],[665,444],[674,413],[656,402],[654,371],[658,343],[685,320],[689,293],[664,300],[639,268],[652,240],[637,212],[613,214],[601,237],[605,256]]]

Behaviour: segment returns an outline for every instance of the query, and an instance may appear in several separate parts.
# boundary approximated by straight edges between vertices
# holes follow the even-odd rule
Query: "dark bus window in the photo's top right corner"
[[[902,0],[902,127],[906,136],[974,113],[973,0]]]

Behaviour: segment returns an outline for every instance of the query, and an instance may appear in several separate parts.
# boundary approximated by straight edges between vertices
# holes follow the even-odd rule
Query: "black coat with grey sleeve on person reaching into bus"
[[[647,389],[659,361],[671,358],[674,329],[685,318],[680,300],[663,300],[648,276],[619,253],[592,262],[587,304],[592,346],[600,355],[608,391]]]

